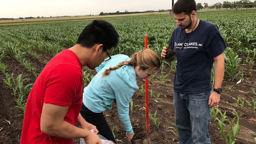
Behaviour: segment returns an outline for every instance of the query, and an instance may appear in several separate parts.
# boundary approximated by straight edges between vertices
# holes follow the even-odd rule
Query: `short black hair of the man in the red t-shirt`
[[[111,23],[104,20],[93,20],[81,32],[76,43],[87,48],[99,43],[103,44],[105,49],[111,49],[118,46],[119,34]]]

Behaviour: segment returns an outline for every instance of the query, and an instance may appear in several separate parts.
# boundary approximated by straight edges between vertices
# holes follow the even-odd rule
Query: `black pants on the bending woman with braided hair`
[[[116,140],[114,139],[114,136],[112,134],[112,130],[110,129],[110,126],[108,125],[102,112],[101,113],[92,112],[84,104],[82,104],[80,114],[82,115],[82,117],[85,119],[86,122],[89,122],[94,126],[96,126],[96,128],[99,131],[98,134],[116,143]]]

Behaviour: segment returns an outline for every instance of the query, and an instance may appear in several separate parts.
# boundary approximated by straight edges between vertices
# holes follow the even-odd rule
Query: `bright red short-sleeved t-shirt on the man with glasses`
[[[69,106],[64,121],[75,125],[82,106],[82,64],[74,52],[62,50],[44,67],[28,96],[21,144],[73,144],[73,139],[41,131],[43,103]]]

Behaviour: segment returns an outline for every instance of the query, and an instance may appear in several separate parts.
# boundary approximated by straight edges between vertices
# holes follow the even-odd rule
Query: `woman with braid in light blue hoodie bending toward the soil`
[[[98,134],[116,143],[102,114],[107,108],[111,109],[113,100],[116,100],[118,117],[130,141],[134,133],[129,118],[129,102],[135,89],[139,89],[136,76],[139,79],[150,78],[160,65],[158,54],[150,49],[140,50],[132,58],[123,54],[108,58],[96,68],[97,74],[84,88],[82,117],[96,126]]]

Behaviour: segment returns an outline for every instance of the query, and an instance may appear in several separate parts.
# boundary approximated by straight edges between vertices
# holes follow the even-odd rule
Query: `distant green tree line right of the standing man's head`
[[[240,8],[252,8],[256,7],[256,0],[254,2],[250,0],[240,0],[240,1],[223,1],[223,3],[216,3],[214,5],[208,6],[208,3],[204,2],[204,6],[201,3],[196,4],[197,10],[201,9],[221,9],[221,8],[230,8],[230,9],[240,9]]]

